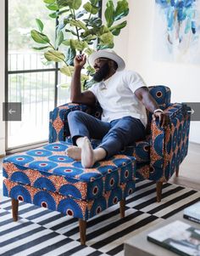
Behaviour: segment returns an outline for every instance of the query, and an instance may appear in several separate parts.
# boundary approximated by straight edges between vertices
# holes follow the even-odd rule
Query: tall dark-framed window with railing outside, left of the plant
[[[9,0],[6,4],[6,101],[22,104],[21,122],[7,123],[6,150],[9,150],[47,140],[49,111],[57,104],[57,95],[60,105],[68,101],[69,92],[56,88],[58,83],[64,83],[65,78],[58,75],[58,65],[42,64],[43,54],[31,48],[36,45],[30,37],[31,29],[36,28],[36,18],[44,22],[47,33],[54,37],[55,20],[48,19],[49,11],[44,3],[41,0]]]

